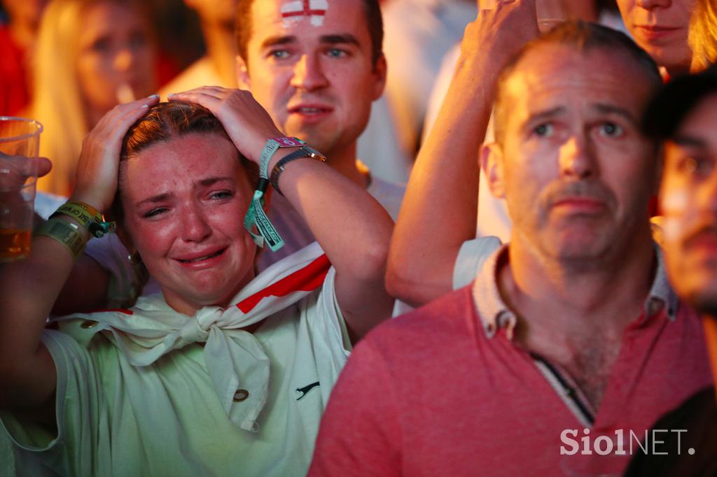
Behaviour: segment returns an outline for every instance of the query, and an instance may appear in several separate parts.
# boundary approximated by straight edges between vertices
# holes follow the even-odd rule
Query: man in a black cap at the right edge
[[[647,134],[665,141],[660,206],[670,281],[702,314],[717,375],[717,67],[665,87],[644,122]],[[715,398],[714,387],[706,387],[660,419],[653,429],[685,432],[679,440],[670,436],[668,455],[635,458],[628,475],[717,475]]]

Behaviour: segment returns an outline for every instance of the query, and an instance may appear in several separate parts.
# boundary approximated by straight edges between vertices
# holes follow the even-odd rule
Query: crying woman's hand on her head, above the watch
[[[267,139],[283,136],[269,113],[247,90],[204,86],[169,95],[169,100],[196,102],[206,107],[222,122],[239,152],[257,164]]]

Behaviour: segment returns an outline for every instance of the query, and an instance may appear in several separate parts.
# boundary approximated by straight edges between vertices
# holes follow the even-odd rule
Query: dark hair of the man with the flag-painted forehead
[[[366,27],[371,36],[371,63],[376,66],[376,62],[379,61],[384,51],[384,19],[381,16],[381,6],[379,0],[355,1],[362,1],[364,4]],[[254,34],[252,31],[252,4],[254,4],[254,0],[239,0],[237,4],[237,52],[245,63],[247,62],[247,44]]]

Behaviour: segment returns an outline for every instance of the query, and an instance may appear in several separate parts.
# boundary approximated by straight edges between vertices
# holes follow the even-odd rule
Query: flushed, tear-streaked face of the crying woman
[[[121,173],[126,231],[167,303],[185,314],[226,306],[254,277],[256,251],[243,225],[252,191],[234,145],[190,134],[143,150]]]

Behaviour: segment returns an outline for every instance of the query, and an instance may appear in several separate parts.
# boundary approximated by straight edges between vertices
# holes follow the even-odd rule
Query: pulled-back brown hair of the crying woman
[[[229,142],[229,135],[222,122],[205,107],[191,102],[161,102],[149,108],[147,114],[129,128],[122,142],[120,153],[120,170],[125,160],[135,158],[143,150],[158,143],[178,138],[191,133],[214,133],[223,136]],[[252,163],[237,150],[237,158],[247,173],[249,183],[254,186],[259,180],[259,166]],[[122,223],[124,211],[120,201],[122,175],[118,182],[115,200],[110,208],[112,217]]]

